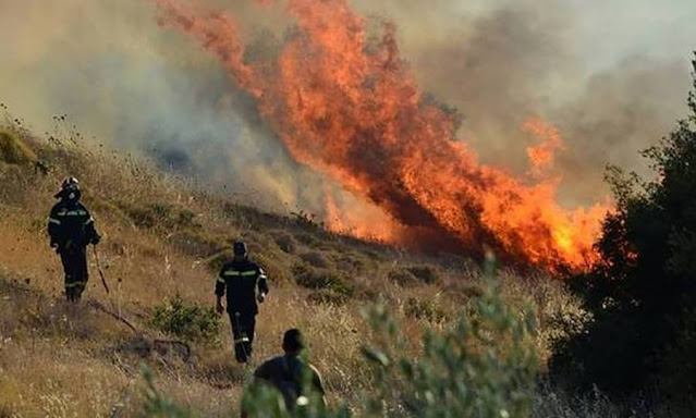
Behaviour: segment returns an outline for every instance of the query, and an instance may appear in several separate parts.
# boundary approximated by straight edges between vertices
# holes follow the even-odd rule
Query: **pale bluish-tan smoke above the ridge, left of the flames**
[[[0,101],[37,133],[66,113],[87,136],[248,204],[318,207],[303,184],[319,179],[288,157],[213,59],[161,30],[148,2],[0,0],[0,11],[10,35]]]

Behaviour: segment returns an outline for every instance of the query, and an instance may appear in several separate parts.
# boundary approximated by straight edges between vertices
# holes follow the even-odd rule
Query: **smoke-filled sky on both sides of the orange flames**
[[[217,0],[244,16],[249,50],[272,53],[282,2]],[[462,115],[483,161],[524,173],[542,118],[566,142],[562,201],[602,199],[603,168],[644,170],[637,151],[684,115],[692,0],[354,0],[393,21],[420,86]],[[254,196],[319,210],[318,175],[282,144],[219,63],[157,24],[147,0],[0,0],[0,102],[37,131],[68,113],[85,134]],[[259,198],[258,196],[267,196]]]

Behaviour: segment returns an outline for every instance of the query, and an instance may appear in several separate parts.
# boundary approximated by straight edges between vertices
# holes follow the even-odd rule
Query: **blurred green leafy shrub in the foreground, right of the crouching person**
[[[406,358],[400,325],[382,308],[368,315],[378,343],[371,416],[524,417],[530,411],[537,357],[534,318],[518,315],[489,290],[473,316],[443,333],[427,332],[419,358]]]

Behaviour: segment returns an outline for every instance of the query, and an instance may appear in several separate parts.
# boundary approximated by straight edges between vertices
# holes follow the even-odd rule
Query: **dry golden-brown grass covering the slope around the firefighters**
[[[370,377],[359,354],[370,339],[361,316],[366,306],[382,302],[396,312],[406,355],[417,356],[423,331],[442,329],[448,318],[467,311],[484,285],[477,269],[460,260],[337,237],[303,219],[193,192],[146,162],[99,147],[54,138],[45,144],[27,133],[17,138],[50,171],[0,161],[0,416],[130,416],[141,402],[141,364],[149,365],[158,385],[184,406],[229,416],[251,369],[232,364],[227,319],[220,348],[194,346],[194,358],[183,361],[143,356],[133,332],[94,304],[121,312],[146,335],[161,336],[148,325],[148,309],[175,295],[212,304],[220,251],[240,237],[271,280],[257,318],[255,362],[279,353],[284,330],[303,329],[331,403],[359,405],[367,390]],[[99,251],[112,290],[107,296],[90,253],[91,278],[78,307],[61,302],[61,266],[45,235],[52,195],[64,175],[82,182],[103,234]],[[300,286],[296,266],[341,278],[354,291]],[[547,278],[510,274],[502,290],[513,306],[538,312],[537,344],[546,358],[558,330],[545,318],[576,311],[576,304]]]

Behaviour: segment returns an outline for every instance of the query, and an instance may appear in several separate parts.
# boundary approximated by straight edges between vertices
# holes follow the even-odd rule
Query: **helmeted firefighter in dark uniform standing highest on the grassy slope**
[[[65,179],[54,196],[60,201],[48,218],[51,247],[63,263],[65,296],[70,302],[78,302],[87,285],[87,245],[97,245],[100,239],[94,219],[80,202],[81,196],[77,179]]]

